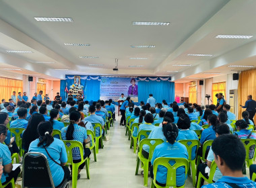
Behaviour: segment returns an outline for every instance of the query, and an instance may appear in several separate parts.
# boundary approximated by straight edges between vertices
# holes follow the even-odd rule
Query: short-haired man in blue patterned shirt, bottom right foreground
[[[203,188],[254,188],[256,183],[244,177],[245,146],[232,134],[219,136],[212,143],[214,160],[223,177],[215,183],[203,185]]]

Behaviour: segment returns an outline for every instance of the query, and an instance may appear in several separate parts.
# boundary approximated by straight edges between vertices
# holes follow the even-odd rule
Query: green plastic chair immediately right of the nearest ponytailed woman
[[[187,148],[187,152],[189,154],[189,164],[191,166],[191,173],[192,173],[192,179],[193,179],[193,185],[195,186],[195,175],[197,173],[197,171],[195,171],[195,160],[196,160],[196,156],[197,156],[197,150],[200,146],[200,142],[199,140],[179,140],[178,142],[181,142],[181,144],[183,144],[184,146],[186,146]],[[196,150],[195,150],[195,158],[192,160],[192,148],[196,146]],[[189,168],[190,169],[190,168]]]

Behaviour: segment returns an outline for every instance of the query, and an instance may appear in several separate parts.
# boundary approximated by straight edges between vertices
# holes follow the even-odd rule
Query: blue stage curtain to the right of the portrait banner
[[[169,81],[139,81],[139,101],[146,103],[148,95],[153,94],[157,103],[162,103],[165,99],[166,102],[172,103],[174,101],[174,83]]]

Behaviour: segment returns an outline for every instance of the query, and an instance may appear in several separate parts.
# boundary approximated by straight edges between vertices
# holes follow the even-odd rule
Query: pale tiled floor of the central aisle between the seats
[[[136,154],[129,147],[125,128],[116,122],[108,131],[108,136],[109,141],[104,142],[104,149],[97,154],[97,162],[91,154],[90,179],[86,179],[86,171],[82,171],[77,187],[144,187],[143,177],[135,176]],[[186,187],[193,187],[191,177],[187,179]]]

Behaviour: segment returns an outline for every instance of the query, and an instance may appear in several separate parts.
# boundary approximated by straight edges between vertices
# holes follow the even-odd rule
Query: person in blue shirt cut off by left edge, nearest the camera
[[[0,125],[0,158],[2,159],[1,165],[3,165],[3,174],[1,175],[2,185],[5,185],[9,181],[11,181],[11,179],[14,179],[14,183],[15,183],[18,178],[18,175],[20,174],[20,167],[12,171],[13,165],[11,164],[11,152],[9,151],[8,146],[3,144],[6,137],[7,137],[7,128],[3,124],[1,124]]]

